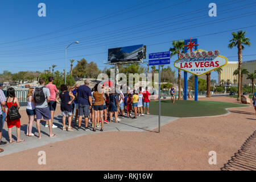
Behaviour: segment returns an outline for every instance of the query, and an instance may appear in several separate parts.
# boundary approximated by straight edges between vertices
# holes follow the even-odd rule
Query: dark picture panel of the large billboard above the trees
[[[112,48],[108,51],[108,62],[119,63],[139,61],[146,58],[144,55],[146,55],[146,46],[143,46],[143,44]]]

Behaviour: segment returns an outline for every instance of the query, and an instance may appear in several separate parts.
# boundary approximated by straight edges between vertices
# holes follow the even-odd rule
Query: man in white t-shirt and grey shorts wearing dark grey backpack
[[[46,120],[48,119],[49,137],[56,137],[56,135],[52,133],[51,111],[48,107],[48,102],[50,101],[51,94],[49,92],[49,89],[44,86],[46,82],[43,78],[40,78],[39,84],[40,85],[35,88],[33,93],[36,111],[36,128],[38,129],[39,138],[41,138],[40,121],[42,117],[44,117],[44,119]]]

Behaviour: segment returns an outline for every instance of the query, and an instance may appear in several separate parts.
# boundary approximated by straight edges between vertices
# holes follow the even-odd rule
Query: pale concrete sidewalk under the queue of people
[[[161,117],[161,126],[166,125],[172,121],[175,121],[177,118],[175,117]],[[9,143],[7,142],[6,145],[0,146],[5,151],[0,153],[0,156],[13,154],[15,152],[28,150],[35,147],[44,146],[49,143],[55,143],[62,140],[67,140],[71,138],[80,137],[82,135],[91,135],[102,133],[100,131],[100,127],[96,127],[96,132],[92,131],[91,123],[88,124],[90,131],[84,131],[84,120],[82,121],[81,130],[77,131],[77,127],[75,125],[72,126],[74,131],[68,132],[62,130],[62,116],[57,115],[53,123],[57,126],[57,128],[53,129],[53,133],[57,135],[57,137],[49,137],[49,128],[44,127],[44,123],[40,125],[42,138],[39,139],[38,137],[26,137],[27,125],[23,125],[21,127],[20,138],[25,139],[24,142],[21,143]],[[104,123],[104,132],[107,131],[146,131],[146,132],[154,132],[152,130],[158,128],[158,116],[157,115],[146,115],[138,117],[138,119],[129,119],[129,118],[122,118],[119,123],[110,122],[109,124]],[[13,139],[16,140],[16,128],[13,127]],[[36,125],[33,125],[32,133],[38,135],[38,131],[36,130]],[[9,141],[7,129],[3,130],[3,141]]]

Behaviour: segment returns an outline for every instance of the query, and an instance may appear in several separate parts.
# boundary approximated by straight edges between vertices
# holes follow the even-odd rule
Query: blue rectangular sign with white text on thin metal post
[[[160,65],[170,64],[170,51],[167,52],[156,52],[148,55],[148,65],[158,65],[158,133],[160,133],[160,122],[161,122],[161,69]]]

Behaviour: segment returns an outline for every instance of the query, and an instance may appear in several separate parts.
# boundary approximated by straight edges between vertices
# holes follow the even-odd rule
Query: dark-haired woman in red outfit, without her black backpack
[[[14,140],[13,138],[11,137],[12,134],[11,134],[11,128],[16,126],[16,130],[17,130],[17,142],[24,142],[23,139],[20,139],[20,119],[15,119],[13,121],[10,121],[9,120],[9,117],[8,117],[8,111],[9,111],[9,108],[14,105],[18,108],[20,108],[19,106],[19,101],[18,99],[15,97],[15,90],[14,88],[9,88],[7,90],[7,97],[6,97],[6,105],[8,107],[8,110],[7,110],[7,113],[6,113],[6,122],[7,122],[7,126],[8,126],[8,135],[9,135],[9,142],[10,143],[13,143]]]

